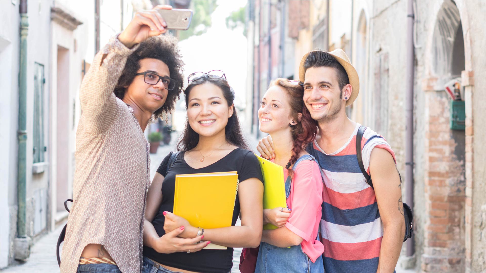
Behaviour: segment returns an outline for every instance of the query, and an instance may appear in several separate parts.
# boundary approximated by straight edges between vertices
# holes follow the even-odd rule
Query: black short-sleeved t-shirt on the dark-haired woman
[[[164,211],[173,212],[174,210],[175,175],[237,171],[240,183],[244,183],[244,180],[253,177],[263,181],[257,157],[253,152],[242,148],[236,148],[219,161],[199,169],[189,166],[184,160],[184,152],[181,152],[169,172],[166,173],[169,158],[170,155],[167,155],[157,169],[157,173],[165,177],[162,183],[162,202],[154,221],[152,221],[158,236],[165,234],[165,217],[162,213]],[[231,225],[235,225],[239,214],[240,200],[237,194]],[[202,273],[227,273],[233,266],[233,248],[231,247],[226,250],[203,249],[194,253],[162,254],[151,247],[144,246],[143,255],[167,266]]]

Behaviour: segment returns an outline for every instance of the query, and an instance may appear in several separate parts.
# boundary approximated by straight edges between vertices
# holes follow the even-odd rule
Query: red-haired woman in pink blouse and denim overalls
[[[287,208],[263,211],[263,224],[278,228],[263,231],[255,273],[324,272],[324,246],[317,238],[323,183],[319,165],[304,149],[317,124],[304,107],[302,85],[272,81],[258,111],[260,131],[272,136],[274,162],[285,166]]]

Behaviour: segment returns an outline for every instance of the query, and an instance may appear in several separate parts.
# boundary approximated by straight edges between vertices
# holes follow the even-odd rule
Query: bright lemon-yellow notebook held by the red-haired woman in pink
[[[283,167],[272,161],[257,156],[263,174],[263,209],[287,208]],[[272,224],[263,225],[263,229],[276,229]]]

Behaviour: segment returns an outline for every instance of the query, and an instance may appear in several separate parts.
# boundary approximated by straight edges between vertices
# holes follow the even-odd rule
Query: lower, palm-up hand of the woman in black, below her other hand
[[[184,227],[176,228],[171,232],[164,234],[162,237],[153,241],[152,246],[158,253],[174,252],[196,252],[205,248],[210,241],[201,241],[204,235],[192,239],[182,239],[177,236],[184,231]],[[201,242],[200,242],[201,241]]]

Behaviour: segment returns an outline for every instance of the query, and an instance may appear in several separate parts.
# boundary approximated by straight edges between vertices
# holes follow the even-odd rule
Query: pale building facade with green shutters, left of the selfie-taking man
[[[30,246],[68,216],[63,202],[72,197],[75,132],[81,114],[79,86],[98,50],[96,37],[103,47],[130,22],[134,10],[164,3],[23,1],[25,25],[21,24],[20,2],[0,2],[2,269],[17,260],[27,260]],[[95,28],[97,24],[99,27]],[[27,42],[25,49],[20,48],[21,25]],[[26,60],[23,105],[19,102],[22,54]],[[25,109],[24,115],[19,115],[19,108]],[[25,130],[19,130],[19,116],[24,117]],[[18,136],[25,136],[23,155],[18,150]],[[22,156],[25,161],[19,163]],[[19,183],[19,177],[25,177],[25,183]],[[25,217],[19,221],[22,215]],[[23,234],[19,234],[19,226]]]

